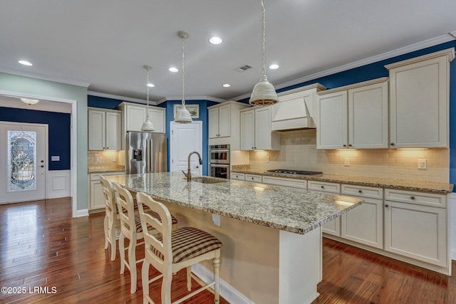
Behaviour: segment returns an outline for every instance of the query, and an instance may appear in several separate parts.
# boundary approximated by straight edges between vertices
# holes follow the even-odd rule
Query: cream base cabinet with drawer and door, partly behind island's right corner
[[[383,188],[342,184],[341,194],[364,199],[341,216],[341,237],[383,249]]]

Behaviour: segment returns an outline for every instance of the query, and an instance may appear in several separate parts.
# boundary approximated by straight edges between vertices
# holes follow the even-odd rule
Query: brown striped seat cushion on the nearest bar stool
[[[160,234],[157,239],[162,241],[162,237]],[[195,258],[195,256],[201,256],[221,247],[222,242],[215,236],[194,227],[182,227],[172,231],[171,234],[172,263]],[[150,249],[159,258],[164,258],[162,253],[155,247],[150,246]]]

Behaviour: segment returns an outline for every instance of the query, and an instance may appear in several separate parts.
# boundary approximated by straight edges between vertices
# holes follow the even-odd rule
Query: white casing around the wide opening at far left
[[[5,90],[0,90],[0,95],[13,98],[32,98],[38,100],[54,101],[56,103],[70,103],[71,104],[71,206],[72,216],[88,216],[88,207],[86,209],[78,210],[78,101],[66,98],[56,98],[51,96],[17,93]]]

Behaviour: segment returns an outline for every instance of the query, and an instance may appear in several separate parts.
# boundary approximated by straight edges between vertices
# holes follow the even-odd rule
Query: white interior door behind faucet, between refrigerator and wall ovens
[[[191,123],[171,122],[171,172],[187,173],[188,155],[197,151],[202,155],[202,122]],[[197,155],[190,159],[190,170],[192,174],[202,174],[202,165],[198,162]]]

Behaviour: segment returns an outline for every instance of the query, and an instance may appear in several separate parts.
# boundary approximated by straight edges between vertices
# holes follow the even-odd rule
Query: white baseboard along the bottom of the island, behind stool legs
[[[214,281],[214,273],[202,266],[201,263],[197,263],[192,266],[192,273],[206,284]],[[239,293],[239,291],[233,288],[232,285],[229,285],[222,279],[220,279],[220,295],[229,303],[254,304],[252,300],[249,300],[249,298],[242,293]]]

